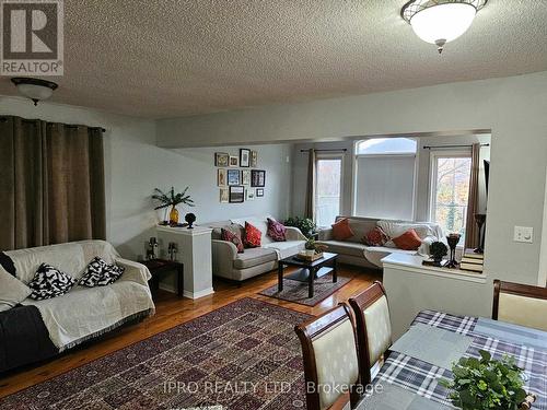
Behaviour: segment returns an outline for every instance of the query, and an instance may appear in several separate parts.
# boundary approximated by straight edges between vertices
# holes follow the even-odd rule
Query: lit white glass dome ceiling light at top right
[[[488,0],[410,0],[400,15],[422,40],[437,45],[439,54],[444,45],[462,34],[473,23],[477,12]]]

